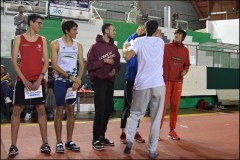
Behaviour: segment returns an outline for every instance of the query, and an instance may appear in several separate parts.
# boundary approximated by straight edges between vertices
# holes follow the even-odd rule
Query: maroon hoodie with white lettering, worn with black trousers
[[[113,58],[114,64],[110,65],[104,62],[105,58]],[[101,35],[97,35],[96,43],[91,46],[87,54],[88,78],[92,81],[94,78],[115,80],[115,76],[111,77],[108,74],[115,68],[116,74],[120,70],[120,54],[113,39],[109,43],[103,40]],[[115,75],[116,75],[115,74]]]

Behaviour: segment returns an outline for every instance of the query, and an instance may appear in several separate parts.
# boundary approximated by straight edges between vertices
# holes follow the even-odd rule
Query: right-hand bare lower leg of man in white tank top
[[[71,104],[67,105],[67,141],[72,140],[74,128],[74,107]]]

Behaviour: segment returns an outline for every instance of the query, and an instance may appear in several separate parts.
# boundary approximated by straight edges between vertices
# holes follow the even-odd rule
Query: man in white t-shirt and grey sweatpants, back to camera
[[[162,118],[165,97],[165,83],[163,80],[164,41],[159,38],[161,31],[158,23],[150,20],[146,24],[147,36],[133,41],[129,50],[129,43],[124,45],[123,57],[129,60],[137,55],[138,71],[133,87],[133,98],[130,109],[130,120],[127,129],[127,145],[125,154],[130,154],[134,143],[138,121],[144,117],[148,104],[152,125],[148,140],[149,158],[157,158],[159,125]]]

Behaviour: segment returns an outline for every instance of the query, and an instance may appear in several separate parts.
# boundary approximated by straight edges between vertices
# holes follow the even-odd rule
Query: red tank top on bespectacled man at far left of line
[[[38,36],[35,42],[29,42],[23,35],[20,36],[20,70],[28,81],[36,81],[43,68],[43,41]],[[17,77],[17,80],[20,80]]]

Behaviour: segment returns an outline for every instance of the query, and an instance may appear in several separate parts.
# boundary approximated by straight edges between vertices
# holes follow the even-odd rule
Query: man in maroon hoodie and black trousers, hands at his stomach
[[[87,54],[86,69],[94,86],[95,117],[92,147],[103,150],[104,145],[114,146],[105,137],[108,119],[113,105],[114,80],[120,70],[120,54],[114,44],[115,27],[111,23],[102,26],[103,36],[97,35],[96,43]]]

